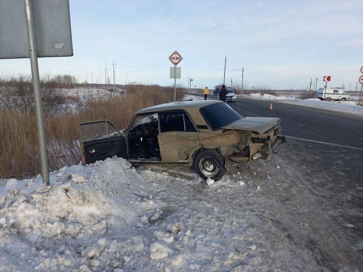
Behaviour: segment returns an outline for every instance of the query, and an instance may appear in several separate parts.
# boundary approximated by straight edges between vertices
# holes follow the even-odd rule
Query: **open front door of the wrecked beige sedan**
[[[125,137],[109,120],[80,123],[79,129],[83,165],[115,155],[127,159]]]

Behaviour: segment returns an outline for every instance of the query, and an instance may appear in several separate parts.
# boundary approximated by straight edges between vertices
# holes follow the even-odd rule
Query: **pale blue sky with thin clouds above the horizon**
[[[72,57],[39,58],[41,74],[80,82],[173,86],[168,56],[183,57],[177,84],[223,82],[307,88],[331,75],[330,87],[355,89],[363,66],[361,0],[70,0]],[[0,75],[30,74],[29,59],[0,60]],[[313,81],[314,82],[314,81]],[[360,90],[360,88],[359,88]]]

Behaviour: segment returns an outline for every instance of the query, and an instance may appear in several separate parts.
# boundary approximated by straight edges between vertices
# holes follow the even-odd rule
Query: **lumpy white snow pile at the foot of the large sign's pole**
[[[50,186],[37,177],[1,187],[0,271],[121,271],[144,252],[142,236],[121,242],[120,230],[147,223],[157,205],[137,196],[147,195],[144,180],[126,160],[64,167],[50,178]]]

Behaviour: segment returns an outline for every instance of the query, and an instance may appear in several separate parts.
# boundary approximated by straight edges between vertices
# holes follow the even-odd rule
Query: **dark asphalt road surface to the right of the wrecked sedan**
[[[242,116],[280,118],[287,137],[274,158],[285,177],[261,192],[274,201],[258,203],[273,211],[261,217],[326,271],[363,271],[363,118],[270,103],[229,103]]]

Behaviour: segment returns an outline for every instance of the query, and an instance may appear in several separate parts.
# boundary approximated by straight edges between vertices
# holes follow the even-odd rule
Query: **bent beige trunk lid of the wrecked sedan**
[[[281,122],[280,118],[244,117],[222,128],[252,131],[263,134]]]

